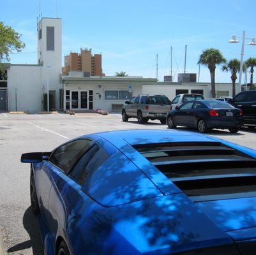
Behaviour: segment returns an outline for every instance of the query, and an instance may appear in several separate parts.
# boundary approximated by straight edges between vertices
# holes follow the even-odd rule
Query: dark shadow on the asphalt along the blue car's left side
[[[32,247],[34,255],[43,255],[43,245],[41,244],[41,235],[38,224],[38,218],[33,214],[32,208],[29,207],[23,215],[23,226],[29,234],[30,240],[17,244],[8,249],[8,252],[17,252]]]

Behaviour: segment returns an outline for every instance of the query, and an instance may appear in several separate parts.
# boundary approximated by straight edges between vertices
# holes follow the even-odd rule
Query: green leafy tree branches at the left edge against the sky
[[[13,51],[20,52],[25,47],[20,36],[21,34],[0,21],[0,71],[3,71],[3,62],[10,61],[9,54]]]

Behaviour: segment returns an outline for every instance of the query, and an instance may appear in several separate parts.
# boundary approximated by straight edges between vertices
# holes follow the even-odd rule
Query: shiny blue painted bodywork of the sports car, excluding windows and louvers
[[[81,137],[94,140],[109,154],[87,186],[81,187],[49,161],[33,163],[45,254],[55,254],[59,237],[71,254],[249,254],[246,244],[239,243],[239,250],[235,243],[256,239],[255,198],[193,203],[134,146],[220,142],[256,158],[255,150],[169,130]]]

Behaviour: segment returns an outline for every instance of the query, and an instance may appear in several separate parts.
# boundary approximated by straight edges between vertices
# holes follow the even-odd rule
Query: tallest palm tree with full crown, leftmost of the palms
[[[210,70],[211,75],[211,96],[215,98],[215,69],[217,64],[223,64],[226,62],[226,59],[223,57],[220,50],[216,48],[207,48],[202,51],[202,54],[199,57],[198,64],[207,66]]]

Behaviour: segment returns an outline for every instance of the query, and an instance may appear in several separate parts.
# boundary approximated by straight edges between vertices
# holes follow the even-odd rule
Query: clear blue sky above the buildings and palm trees
[[[39,0],[1,3],[1,17],[22,34],[23,52],[36,52],[36,17]],[[56,17],[56,0],[41,0],[42,16]],[[170,73],[170,46],[174,49],[173,75],[184,69],[184,45],[188,45],[188,73],[198,73],[197,61],[205,48],[218,48],[226,59],[240,59],[241,43],[227,43],[232,34],[256,36],[256,1],[238,0],[57,0],[63,20],[63,55],[89,47],[102,52],[106,75],[126,71],[130,76],[158,77]],[[245,46],[245,59],[256,57],[256,46]],[[35,53],[12,54],[12,63],[36,63]],[[178,66],[178,68],[177,68]],[[249,77],[248,77],[249,78]],[[201,68],[200,82],[209,82]],[[230,82],[230,74],[216,71],[216,82]]]

